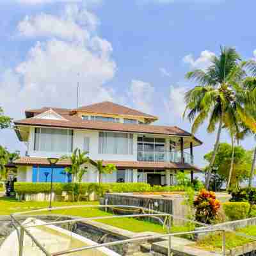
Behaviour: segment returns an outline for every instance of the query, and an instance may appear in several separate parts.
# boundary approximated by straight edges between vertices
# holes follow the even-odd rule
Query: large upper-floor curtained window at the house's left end
[[[35,129],[35,151],[72,152],[73,131],[68,129]]]

